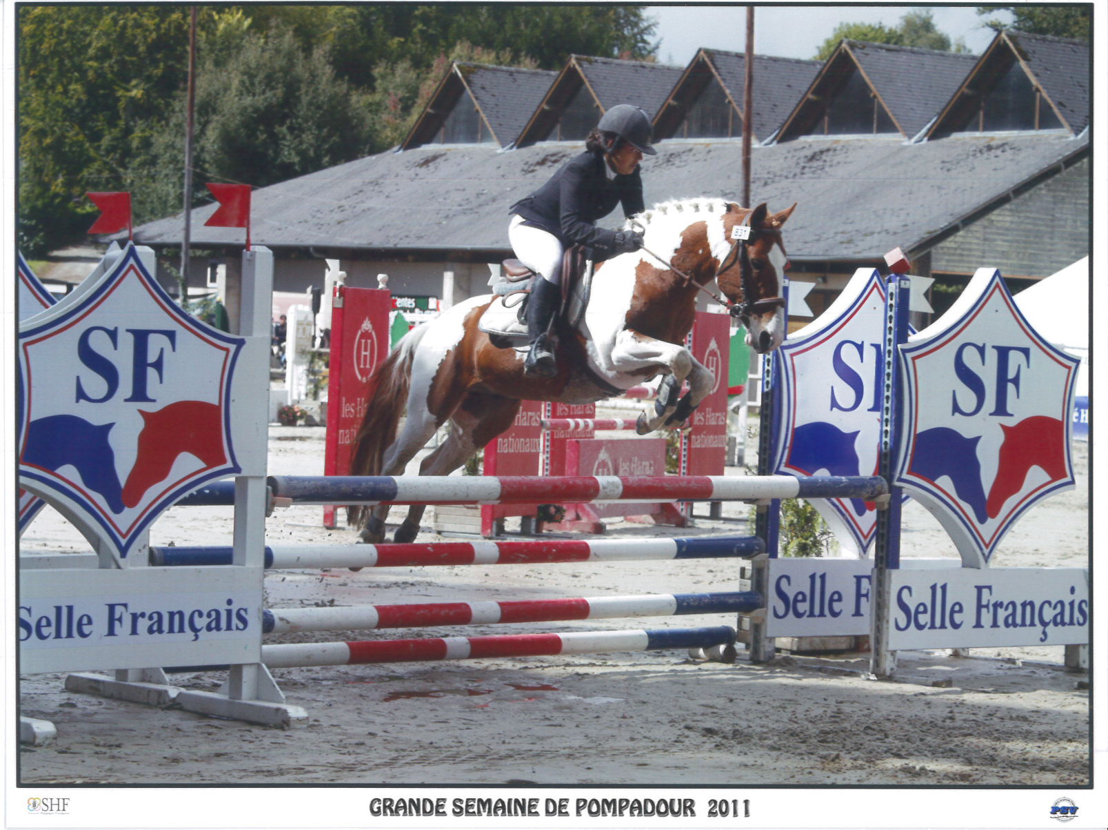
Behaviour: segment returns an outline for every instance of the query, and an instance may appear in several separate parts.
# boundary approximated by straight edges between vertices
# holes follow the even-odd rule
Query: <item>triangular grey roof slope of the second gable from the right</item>
[[[940,113],[977,62],[966,53],[859,41],[847,44],[909,139]]]

